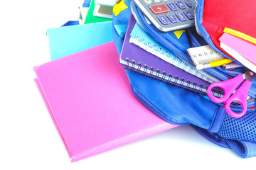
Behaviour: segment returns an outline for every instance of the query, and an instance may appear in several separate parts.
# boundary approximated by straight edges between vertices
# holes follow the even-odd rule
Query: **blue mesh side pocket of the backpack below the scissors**
[[[255,111],[245,113],[242,118],[232,118],[228,114],[225,115],[223,125],[221,125],[218,135],[231,140],[256,142]]]

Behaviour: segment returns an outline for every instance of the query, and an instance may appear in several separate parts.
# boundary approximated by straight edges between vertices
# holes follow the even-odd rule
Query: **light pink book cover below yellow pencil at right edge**
[[[242,55],[245,59],[256,64],[256,45],[252,42],[243,40],[242,38],[238,38],[237,36],[230,35],[228,33],[223,33],[219,40],[225,45],[228,45],[231,49],[235,50],[235,52],[238,52],[238,54]]]

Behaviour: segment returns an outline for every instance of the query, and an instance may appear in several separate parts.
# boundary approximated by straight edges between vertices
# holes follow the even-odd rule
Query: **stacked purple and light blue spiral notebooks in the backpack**
[[[139,27],[132,15],[119,62],[135,72],[202,94],[206,94],[206,89],[213,81],[218,81],[155,42]]]

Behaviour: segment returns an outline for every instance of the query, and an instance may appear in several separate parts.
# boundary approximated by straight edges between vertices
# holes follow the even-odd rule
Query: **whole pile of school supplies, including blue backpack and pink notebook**
[[[85,1],[80,25],[47,30],[36,84],[72,162],[177,125],[256,156],[255,26],[220,2]]]

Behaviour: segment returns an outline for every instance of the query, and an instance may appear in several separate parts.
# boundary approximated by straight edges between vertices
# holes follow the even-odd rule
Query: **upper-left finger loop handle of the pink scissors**
[[[233,79],[229,79],[226,81],[218,81],[214,82],[213,84],[210,84],[210,86],[207,89],[208,97],[217,103],[222,103],[228,100],[230,95],[235,91],[235,89],[239,86],[239,84],[244,81],[244,78],[242,77],[242,74],[239,74],[237,77]],[[215,87],[219,87],[220,89],[223,89],[224,95],[221,98],[218,98],[212,94],[212,89]]]

